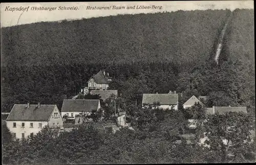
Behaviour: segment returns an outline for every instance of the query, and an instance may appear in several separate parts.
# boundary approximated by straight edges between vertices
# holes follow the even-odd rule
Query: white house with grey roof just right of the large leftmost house
[[[99,108],[99,100],[63,100],[61,116],[66,114],[70,119],[75,119],[77,114],[91,114],[92,110],[98,111]]]

